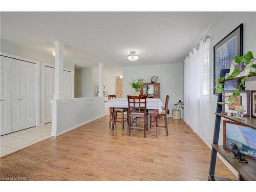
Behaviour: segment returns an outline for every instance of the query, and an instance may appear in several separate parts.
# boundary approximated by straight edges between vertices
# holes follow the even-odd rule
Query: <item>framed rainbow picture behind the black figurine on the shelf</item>
[[[232,150],[232,143],[236,143],[240,152],[256,160],[256,130],[241,125],[238,122],[223,121],[223,147]]]

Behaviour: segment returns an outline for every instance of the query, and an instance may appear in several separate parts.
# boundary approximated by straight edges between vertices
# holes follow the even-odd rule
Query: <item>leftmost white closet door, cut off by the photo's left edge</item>
[[[0,135],[11,133],[11,58],[1,56]]]

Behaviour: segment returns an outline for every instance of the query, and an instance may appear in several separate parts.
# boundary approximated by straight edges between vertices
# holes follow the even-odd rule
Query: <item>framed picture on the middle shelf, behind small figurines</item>
[[[223,102],[229,102],[233,98],[233,92],[236,90],[224,90],[223,95],[222,95],[222,101]],[[226,99],[225,99],[225,96]],[[249,90],[243,90],[240,94],[240,96],[237,96],[237,102],[233,103],[229,106],[226,104],[222,105],[222,114],[226,115],[227,113],[234,113],[235,108],[237,105],[242,105],[244,106],[244,114],[245,117],[250,117],[250,91]]]

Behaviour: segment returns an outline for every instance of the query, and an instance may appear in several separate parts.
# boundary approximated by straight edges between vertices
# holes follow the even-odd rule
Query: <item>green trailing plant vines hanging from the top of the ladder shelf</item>
[[[251,64],[253,61],[255,61],[256,58],[253,56],[253,53],[251,51],[248,51],[246,54],[244,54],[243,56],[236,56],[233,58],[232,64],[236,67],[236,63],[245,63],[245,68],[249,68],[248,65]],[[232,79],[235,78],[237,75],[239,75],[241,73],[241,71],[237,68],[235,68],[235,70],[232,72],[231,75],[229,75],[227,77],[227,79]],[[251,65],[251,71],[249,72],[248,75],[244,76],[243,78],[241,78],[241,81],[239,83],[238,89],[236,91],[233,92],[232,94],[232,98],[231,100],[228,100],[227,97],[223,94],[223,86],[224,83],[222,83],[221,81],[225,80],[225,76],[221,77],[218,79],[218,84],[216,87],[214,87],[215,92],[217,94],[222,94],[225,97],[225,101],[223,102],[218,102],[219,104],[227,104],[228,106],[236,103],[237,102],[237,96],[240,96],[241,92],[242,92],[242,88],[245,88],[245,80],[252,74],[256,74],[256,64],[252,64]]]

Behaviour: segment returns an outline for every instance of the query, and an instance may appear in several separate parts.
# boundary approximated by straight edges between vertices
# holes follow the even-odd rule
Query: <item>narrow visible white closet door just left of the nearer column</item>
[[[45,67],[45,123],[52,121],[51,99],[54,97],[54,68]]]

